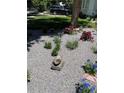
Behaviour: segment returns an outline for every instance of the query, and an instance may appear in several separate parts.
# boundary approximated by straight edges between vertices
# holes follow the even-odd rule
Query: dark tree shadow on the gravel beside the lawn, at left
[[[59,36],[61,37],[63,35],[63,30],[55,30],[51,29],[48,32],[44,32],[43,30],[27,30],[27,50],[30,51],[30,48],[33,44],[44,42],[42,39],[42,36],[49,36],[49,37],[55,37]]]

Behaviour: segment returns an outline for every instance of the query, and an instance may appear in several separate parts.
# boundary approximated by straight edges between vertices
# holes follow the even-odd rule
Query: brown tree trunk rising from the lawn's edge
[[[76,26],[78,23],[78,17],[79,17],[81,5],[82,5],[82,0],[73,0],[73,10],[72,10],[72,19],[71,19],[72,26]]]

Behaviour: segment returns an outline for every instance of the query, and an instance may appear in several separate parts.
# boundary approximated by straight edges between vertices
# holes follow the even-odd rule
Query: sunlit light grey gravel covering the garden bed
[[[93,29],[85,28],[84,30],[92,31]],[[64,34],[61,37],[61,49],[59,55],[65,62],[61,71],[51,70],[51,64],[54,57],[51,56],[54,48],[54,37],[42,35],[39,42],[34,43],[27,53],[27,65],[31,74],[31,82],[28,83],[28,93],[76,93],[75,83],[79,81],[84,73],[81,66],[87,59],[97,60],[96,54],[91,50],[92,46],[96,46],[96,31],[94,33],[94,42],[79,41],[79,46],[74,50],[66,48],[65,44],[68,40],[79,40],[82,33],[75,35]],[[44,48],[43,40],[52,42],[52,49]]]

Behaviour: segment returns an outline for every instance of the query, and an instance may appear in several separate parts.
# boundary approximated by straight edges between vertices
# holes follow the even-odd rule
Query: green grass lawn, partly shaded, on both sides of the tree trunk
[[[71,17],[67,16],[34,16],[29,18],[28,29],[62,29],[68,26],[71,22]],[[96,24],[86,19],[78,19],[79,25],[96,28]]]

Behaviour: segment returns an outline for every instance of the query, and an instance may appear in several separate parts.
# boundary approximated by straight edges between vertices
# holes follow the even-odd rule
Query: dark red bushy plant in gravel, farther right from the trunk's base
[[[81,38],[80,40],[83,40],[83,41],[92,41],[93,40],[93,37],[92,37],[92,34],[90,31],[86,32],[84,31],[81,35]]]

